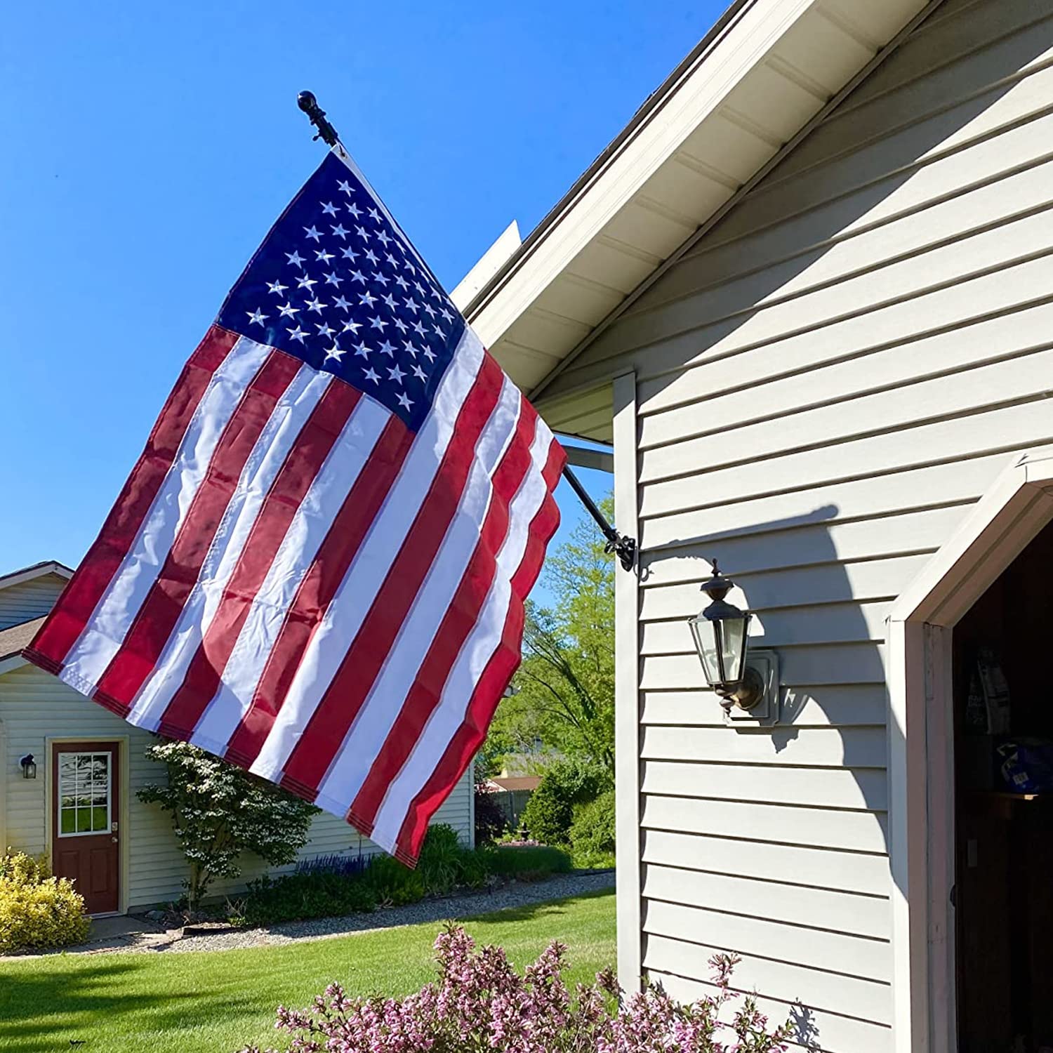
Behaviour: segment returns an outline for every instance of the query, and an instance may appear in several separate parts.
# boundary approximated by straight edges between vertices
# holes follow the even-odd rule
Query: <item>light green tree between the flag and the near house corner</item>
[[[613,515],[611,498],[601,502]],[[614,557],[591,520],[544,569],[555,602],[528,601],[516,693],[504,698],[482,755],[548,753],[590,759],[614,773]]]

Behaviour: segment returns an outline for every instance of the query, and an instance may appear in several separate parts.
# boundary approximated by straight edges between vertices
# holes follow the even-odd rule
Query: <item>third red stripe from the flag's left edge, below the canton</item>
[[[188,739],[215,697],[234,644],[293,516],[360,398],[361,393],[350,384],[332,382],[297,435],[245,538],[183,682],[164,711],[159,728],[162,735]]]

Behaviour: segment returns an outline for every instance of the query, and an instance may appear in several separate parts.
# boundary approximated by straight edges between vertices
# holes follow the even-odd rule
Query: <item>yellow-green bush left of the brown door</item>
[[[0,953],[83,942],[91,919],[65,877],[48,876],[43,857],[0,857]]]

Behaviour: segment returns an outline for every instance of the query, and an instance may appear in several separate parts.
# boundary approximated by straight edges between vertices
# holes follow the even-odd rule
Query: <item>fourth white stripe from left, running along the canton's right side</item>
[[[471,330],[465,330],[402,470],[303,654],[263,748],[250,769],[257,775],[278,780],[340,668],[435,478],[458,411],[482,360],[482,345]]]

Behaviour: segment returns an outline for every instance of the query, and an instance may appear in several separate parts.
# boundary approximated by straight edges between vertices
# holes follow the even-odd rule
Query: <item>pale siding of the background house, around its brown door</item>
[[[164,775],[162,768],[145,757],[145,750],[154,737],[32,665],[0,676],[0,750],[3,751],[0,790],[6,791],[0,794],[0,820],[3,820],[0,821],[0,841],[5,839],[5,843],[15,849],[31,853],[47,850],[47,764],[40,763],[37,778],[26,780],[21,777],[18,758],[33,753],[38,761],[43,761],[47,757],[44,742],[48,737],[105,740],[126,737],[130,786],[123,791],[128,807],[125,902],[134,910],[178,898],[186,865],[168,816],[158,808],[140,803],[135,797],[136,790]],[[435,817],[436,822],[454,827],[465,842],[471,840],[470,775],[471,770]],[[311,840],[300,851],[300,857],[312,858],[331,852],[357,854],[359,851],[371,854],[379,850],[345,822],[323,813],[316,816]],[[218,894],[239,891],[246,880],[265,869],[258,861],[249,860],[240,880],[219,882],[214,891]],[[289,869],[275,868],[271,873]]]

